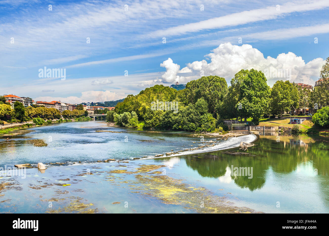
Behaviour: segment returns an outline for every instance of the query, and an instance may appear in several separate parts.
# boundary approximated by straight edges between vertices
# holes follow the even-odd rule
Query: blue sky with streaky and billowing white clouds
[[[230,85],[251,68],[269,86],[314,86],[328,10],[328,0],[0,0],[0,95],[100,102],[207,75]]]

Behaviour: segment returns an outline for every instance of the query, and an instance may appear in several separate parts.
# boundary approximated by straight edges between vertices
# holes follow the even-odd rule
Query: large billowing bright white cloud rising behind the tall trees
[[[258,49],[249,44],[238,46],[231,43],[220,44],[205,57],[210,59],[209,63],[206,60],[194,61],[188,63],[187,67],[194,73],[203,72],[204,75],[218,75],[226,78],[227,81],[230,81],[241,69],[250,70],[254,68],[263,71],[269,85],[278,79],[313,84],[314,79],[312,78],[317,78],[325,62],[322,58],[316,58],[305,63],[301,56],[292,52],[279,54],[276,58],[271,56],[265,58]],[[172,61],[171,63],[173,64]],[[170,78],[175,76],[173,72],[175,70],[172,69]]]

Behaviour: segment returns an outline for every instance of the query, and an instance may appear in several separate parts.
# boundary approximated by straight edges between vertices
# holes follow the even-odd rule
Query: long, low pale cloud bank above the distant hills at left
[[[81,103],[81,102],[100,102],[100,101],[112,101],[126,97],[125,94],[118,94],[111,91],[85,91],[81,93],[81,97],[37,97],[34,100],[38,101],[62,101],[66,103]]]

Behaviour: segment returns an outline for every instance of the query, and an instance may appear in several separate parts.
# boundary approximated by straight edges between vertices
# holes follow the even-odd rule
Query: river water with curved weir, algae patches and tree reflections
[[[28,130],[0,138],[0,166],[7,168],[0,171],[0,212],[329,213],[326,137],[259,135],[255,146],[242,151],[240,141],[251,142],[254,135],[200,140],[187,132],[139,131],[99,121]],[[30,139],[48,146],[35,147]],[[190,150],[207,143],[212,145]],[[150,159],[184,149],[189,150]],[[136,157],[142,159],[130,160]],[[126,162],[95,163],[109,158]],[[8,170],[38,162],[65,164],[21,175]]]

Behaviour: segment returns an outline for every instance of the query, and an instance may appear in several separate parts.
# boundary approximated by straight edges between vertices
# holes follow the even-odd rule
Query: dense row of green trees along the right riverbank
[[[130,123],[136,125],[137,118],[144,122],[145,128],[186,131],[212,131],[223,127],[223,119],[233,118],[246,121],[250,117],[258,125],[261,118],[282,117],[285,112],[299,115],[306,107],[316,111],[329,106],[328,71],[329,57],[320,72],[323,82],[313,91],[302,89],[289,80],[278,80],[270,88],[264,73],[255,69],[240,70],[231,79],[230,86],[216,75],[192,80],[179,91],[155,85],[118,102],[114,111],[108,112],[107,121],[134,127]],[[152,109],[152,102],[157,100],[177,101],[178,112]],[[120,117],[124,121],[120,121]]]

